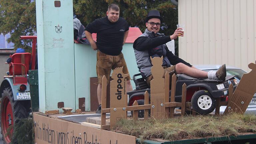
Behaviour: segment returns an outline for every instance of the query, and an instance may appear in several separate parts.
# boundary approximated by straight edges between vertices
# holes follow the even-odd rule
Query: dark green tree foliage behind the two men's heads
[[[145,31],[145,18],[150,10],[160,11],[164,18],[160,33],[171,35],[178,24],[178,9],[170,0],[73,0],[74,13],[78,15],[83,25],[97,18],[106,16],[109,4],[115,3],[120,7],[120,16],[125,18],[131,27],[139,27]]]

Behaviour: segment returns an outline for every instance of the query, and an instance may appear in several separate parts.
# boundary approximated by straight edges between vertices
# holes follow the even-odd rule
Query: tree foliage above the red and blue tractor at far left
[[[21,35],[36,32],[36,7],[31,0],[0,0],[0,33],[11,34],[7,40],[18,47],[31,49],[28,40],[20,41]]]

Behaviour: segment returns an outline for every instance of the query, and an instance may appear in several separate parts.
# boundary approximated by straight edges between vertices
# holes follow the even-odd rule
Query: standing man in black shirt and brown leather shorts
[[[85,35],[92,49],[98,50],[96,72],[99,81],[97,88],[99,107],[96,113],[101,113],[101,80],[103,75],[106,76],[108,83],[111,69],[123,67],[123,73],[129,73],[121,52],[128,36],[129,25],[124,18],[119,18],[119,12],[118,5],[111,4],[108,6],[106,17],[93,21],[85,28]],[[92,39],[92,33],[97,33],[96,43]],[[133,90],[130,79],[130,76],[126,77],[127,91]]]

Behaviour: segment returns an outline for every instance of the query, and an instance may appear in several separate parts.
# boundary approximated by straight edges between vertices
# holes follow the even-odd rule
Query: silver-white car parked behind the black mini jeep
[[[221,65],[194,65],[194,67],[203,70],[203,71],[217,71],[218,68],[220,68]],[[237,82],[239,83],[241,77],[243,74],[247,73],[246,71],[237,68],[237,67],[233,67],[233,66],[226,66],[226,70],[227,70],[227,75],[235,75],[235,78],[237,80]],[[223,114],[224,111],[226,109],[226,106],[221,106],[220,107],[220,114]],[[256,93],[254,94],[249,106],[247,107],[245,113],[254,113],[256,114]]]

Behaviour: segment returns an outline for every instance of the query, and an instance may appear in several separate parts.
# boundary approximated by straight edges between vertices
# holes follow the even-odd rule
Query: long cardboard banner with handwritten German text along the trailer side
[[[135,137],[33,114],[36,144],[132,144]]]

